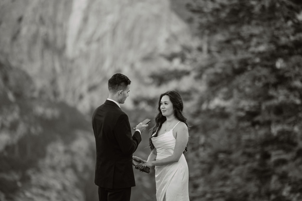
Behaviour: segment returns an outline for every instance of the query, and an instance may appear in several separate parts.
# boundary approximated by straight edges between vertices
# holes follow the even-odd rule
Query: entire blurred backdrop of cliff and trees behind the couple
[[[182,95],[190,200],[302,199],[300,1],[79,2],[0,3],[0,200],[97,200],[90,121],[116,72],[132,80],[131,125],[155,116],[160,93]],[[134,172],[132,200],[155,200],[154,170]]]

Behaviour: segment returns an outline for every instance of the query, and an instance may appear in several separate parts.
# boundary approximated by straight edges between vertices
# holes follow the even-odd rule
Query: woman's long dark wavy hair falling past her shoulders
[[[159,96],[159,100],[158,100],[158,113],[155,117],[155,126],[153,126],[150,130],[150,137],[149,137],[149,148],[151,150],[154,149],[154,145],[152,143],[152,137],[157,137],[158,136],[158,131],[160,130],[160,128],[162,127],[162,124],[167,120],[167,118],[165,116],[162,115],[162,111],[160,110],[160,101],[162,100],[163,96],[169,96],[170,101],[173,104],[173,108],[174,108],[174,115],[176,117],[176,119],[178,119],[179,121],[184,122],[187,127],[188,127],[188,120],[187,118],[183,115],[183,102],[182,102],[182,97],[179,95],[178,92],[176,91],[167,91],[166,93],[162,93]],[[155,133],[156,132],[156,133]],[[152,134],[155,133],[155,135],[152,136]],[[189,137],[190,139],[190,137]],[[188,143],[187,146],[185,147],[184,153],[188,151]]]

